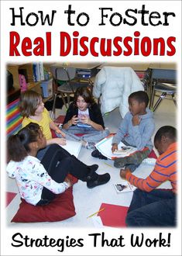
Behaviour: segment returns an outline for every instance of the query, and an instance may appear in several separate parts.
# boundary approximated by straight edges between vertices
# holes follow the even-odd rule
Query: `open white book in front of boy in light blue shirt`
[[[112,138],[114,135],[109,135],[105,139],[98,142],[98,144],[95,144],[95,147],[98,149],[101,154],[103,154],[105,157],[108,157],[109,159],[115,159],[118,157],[126,157],[129,154],[132,154],[137,150],[136,147],[129,147],[125,146],[122,142],[118,144],[118,150],[116,150],[114,153],[112,153]]]

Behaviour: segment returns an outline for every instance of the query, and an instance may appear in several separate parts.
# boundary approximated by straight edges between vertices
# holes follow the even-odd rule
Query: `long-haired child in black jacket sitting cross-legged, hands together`
[[[105,129],[101,111],[88,88],[77,88],[74,102],[67,109],[63,131],[66,139],[81,141],[87,149],[94,149],[94,144],[108,136],[109,130]],[[77,137],[75,133],[83,135]]]

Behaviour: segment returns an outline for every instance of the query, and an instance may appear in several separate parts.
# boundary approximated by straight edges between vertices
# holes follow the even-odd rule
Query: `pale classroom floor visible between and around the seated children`
[[[57,109],[57,116],[65,115],[65,109]],[[121,116],[118,109],[110,112],[104,117],[105,126],[108,127],[110,132],[115,133],[118,129],[118,125],[121,122]],[[160,126],[171,125],[177,126],[177,108],[174,106],[173,101],[164,99],[159,109],[154,113],[154,119],[156,123],[156,130]],[[119,169],[112,167],[112,161],[100,160],[98,158],[91,157],[91,150],[81,148],[81,152],[78,157],[86,164],[98,164],[98,174],[108,172],[111,175],[111,180],[105,184],[94,189],[88,189],[85,182],[77,182],[74,185],[74,205],[76,209],[76,216],[56,223],[11,223],[12,217],[15,216],[17,209],[19,208],[19,194],[15,185],[15,181],[7,177],[7,192],[12,192],[12,201],[6,206],[6,219],[7,224],[10,227],[97,227],[94,218],[88,218],[91,213],[97,212],[101,206],[101,203],[115,204],[118,206],[129,206],[132,199],[132,192],[117,194],[113,186],[116,182],[121,182],[119,177]],[[145,178],[152,171],[153,166],[149,164],[141,164],[136,169],[134,174],[141,178]],[[170,188],[169,182],[162,185],[163,188]],[[11,200],[11,199],[10,199]]]

